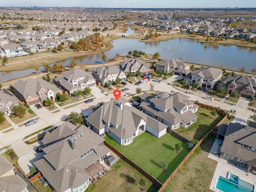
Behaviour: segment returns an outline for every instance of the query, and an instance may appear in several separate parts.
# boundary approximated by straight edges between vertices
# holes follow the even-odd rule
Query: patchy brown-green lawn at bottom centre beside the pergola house
[[[139,192],[139,181],[141,178],[144,178],[146,181],[145,188],[147,192],[158,191],[159,188],[140,172],[124,160],[119,160],[112,166],[112,170],[107,172],[104,177],[98,179],[95,184],[89,186],[85,192]]]

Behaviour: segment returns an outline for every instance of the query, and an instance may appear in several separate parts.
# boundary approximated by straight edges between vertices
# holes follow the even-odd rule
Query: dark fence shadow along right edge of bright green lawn
[[[156,179],[164,184],[164,182],[170,177],[182,160],[188,155],[189,151],[190,150],[187,150],[186,147],[183,148],[180,153],[177,154],[177,156],[168,164],[167,169],[162,171],[162,173]]]

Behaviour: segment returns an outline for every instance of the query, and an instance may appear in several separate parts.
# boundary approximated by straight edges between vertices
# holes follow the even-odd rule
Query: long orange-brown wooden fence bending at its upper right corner
[[[208,109],[208,110],[215,110],[217,113],[222,114],[224,117],[222,118],[222,120],[220,120],[220,122],[214,126],[214,128],[212,128],[212,130],[210,130],[195,146],[194,148],[192,148],[192,150],[190,151],[190,153],[183,159],[183,161],[179,164],[179,166],[174,170],[174,172],[172,172],[172,174],[170,175],[170,177],[164,182],[164,184],[162,185],[162,187],[158,190],[158,192],[162,192],[164,190],[164,188],[167,186],[168,182],[175,176],[175,174],[178,172],[178,170],[180,170],[180,168],[182,167],[182,165],[188,160],[188,158],[194,153],[194,151],[196,150],[196,148],[198,148],[200,146],[200,144],[205,141],[208,136],[210,136],[211,134],[214,135],[214,131],[218,128],[218,126],[224,122],[224,120],[226,120],[227,118],[227,114],[220,109],[214,108],[212,106],[207,106],[201,103],[197,103],[197,105],[199,105],[200,107],[204,108],[204,109]],[[173,132],[173,131],[172,131]],[[216,133],[216,132],[215,132]],[[178,137],[177,137],[178,138]]]

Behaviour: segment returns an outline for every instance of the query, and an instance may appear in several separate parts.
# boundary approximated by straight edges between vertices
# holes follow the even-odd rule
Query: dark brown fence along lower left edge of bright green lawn
[[[120,153],[118,150],[116,150],[114,147],[112,147],[110,144],[108,144],[106,141],[104,141],[104,145],[106,145],[108,148],[110,148],[114,153],[116,153],[118,156],[120,156],[120,158],[122,158],[123,160],[125,160],[128,164],[130,164],[131,166],[133,166],[138,172],[140,172],[141,174],[143,174],[148,180],[152,181],[154,184],[156,184],[156,186],[158,186],[159,188],[162,187],[162,183],[160,183],[156,178],[154,178],[152,175],[150,175],[148,172],[146,172],[145,170],[143,170],[140,166],[138,166],[137,164],[135,164],[134,162],[132,162],[129,158],[127,158],[126,156],[124,156],[122,153]]]

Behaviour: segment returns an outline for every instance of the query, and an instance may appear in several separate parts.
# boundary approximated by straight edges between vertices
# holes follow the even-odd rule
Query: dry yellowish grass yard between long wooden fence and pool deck
[[[210,136],[202,142],[170,180],[163,192],[212,192],[209,188],[217,162],[208,158],[208,154],[214,140],[214,136]]]

